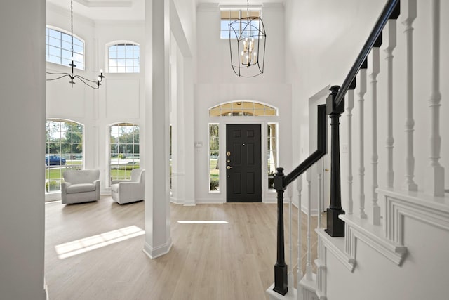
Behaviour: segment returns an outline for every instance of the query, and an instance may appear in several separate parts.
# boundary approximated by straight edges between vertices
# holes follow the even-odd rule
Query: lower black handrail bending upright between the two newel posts
[[[297,166],[293,171],[291,171],[283,181],[283,186],[286,187],[292,181],[303,174],[312,164],[318,162],[321,157],[326,155],[327,150],[327,118],[326,118],[326,104],[318,105],[318,122],[317,122],[317,141],[316,141],[316,151],[313,152],[309,157],[304,159],[299,166]]]

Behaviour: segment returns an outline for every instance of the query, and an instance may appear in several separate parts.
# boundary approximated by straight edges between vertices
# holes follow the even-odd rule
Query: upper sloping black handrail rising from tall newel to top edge
[[[343,81],[340,91],[338,91],[337,93],[337,96],[335,98],[336,105],[340,105],[340,103],[342,102],[344,95],[351,85],[351,82],[356,78],[356,75],[360,70],[361,65],[363,64],[363,61],[366,60],[366,58],[368,57],[368,53],[370,53],[371,48],[373,48],[375,41],[380,36],[380,34],[382,34],[382,30],[384,29],[385,24],[387,24],[388,19],[395,12],[396,5],[399,5],[399,0],[389,0],[387,4],[385,4],[379,19],[377,19],[377,22],[370,33],[370,36],[368,37],[365,44],[363,45],[362,50],[358,54],[356,62],[354,63],[354,65],[352,65],[351,70],[349,70],[347,77]]]

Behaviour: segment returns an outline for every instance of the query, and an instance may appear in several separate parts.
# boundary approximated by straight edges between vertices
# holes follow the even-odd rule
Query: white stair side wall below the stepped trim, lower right
[[[342,299],[342,295],[347,300],[447,299],[448,228],[424,220],[414,213],[404,216],[401,230],[407,254],[401,266],[361,238],[355,241],[353,272],[326,249],[327,299]]]

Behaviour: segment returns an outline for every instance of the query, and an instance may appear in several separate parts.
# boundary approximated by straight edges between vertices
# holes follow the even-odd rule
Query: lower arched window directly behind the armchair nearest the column
[[[113,124],[109,129],[111,180],[130,179],[131,170],[140,167],[139,126]]]

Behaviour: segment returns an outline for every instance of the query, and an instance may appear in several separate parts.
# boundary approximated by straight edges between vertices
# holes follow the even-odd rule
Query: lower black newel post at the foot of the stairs
[[[287,283],[287,265],[284,254],[283,242],[283,191],[286,190],[283,182],[286,176],[283,174],[283,168],[276,168],[277,173],[274,176],[274,188],[278,193],[278,238],[277,238],[277,260],[274,265],[274,292],[285,295],[288,292]]]

